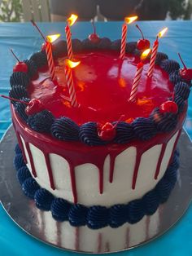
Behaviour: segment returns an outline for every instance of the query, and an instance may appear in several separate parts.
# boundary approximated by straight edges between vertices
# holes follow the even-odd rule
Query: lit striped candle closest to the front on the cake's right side
[[[150,52],[151,52],[151,49],[146,49],[146,51],[143,51],[143,53],[141,55],[141,61],[137,64],[137,70],[135,73],[135,77],[133,80],[133,86],[131,88],[131,94],[129,97],[129,101],[131,101],[131,102],[135,102],[135,100],[136,100],[137,87],[138,87],[139,82],[142,77],[143,60],[146,59],[147,55],[149,55]]]

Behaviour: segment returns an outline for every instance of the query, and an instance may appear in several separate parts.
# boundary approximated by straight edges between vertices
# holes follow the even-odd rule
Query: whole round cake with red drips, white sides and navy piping
[[[24,194],[58,221],[89,228],[120,227],[154,214],[177,180],[177,141],[190,79],[177,61],[150,56],[135,100],[129,100],[142,51],[120,40],[72,40],[77,105],[68,90],[67,43],[53,43],[55,77],[46,51],[16,64],[11,114],[19,145],[15,169]],[[19,99],[20,102],[14,99]]]

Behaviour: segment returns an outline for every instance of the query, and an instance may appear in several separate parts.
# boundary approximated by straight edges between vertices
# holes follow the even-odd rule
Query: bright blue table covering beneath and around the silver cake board
[[[180,52],[187,67],[192,67],[192,21],[142,21],[137,22],[146,38],[155,40],[155,35],[165,26],[168,26],[168,33],[160,39],[159,51],[168,54],[169,59],[178,60],[177,52]],[[120,22],[98,22],[96,29],[98,35],[115,40],[121,35]],[[64,35],[64,23],[41,23],[41,30],[45,34],[61,33]],[[72,27],[72,38],[84,39],[89,33],[93,33],[92,25],[89,22],[76,23]],[[20,60],[26,60],[33,52],[39,51],[42,40],[30,23],[7,23],[0,24],[0,94],[8,95],[10,90],[9,77],[15,64],[15,59],[10,53],[12,48],[15,55]],[[129,25],[128,41],[137,41],[140,34],[133,24]],[[0,138],[11,125],[11,113],[9,102],[0,98]],[[185,121],[185,130],[192,139],[192,95],[189,99],[189,109]],[[191,230],[192,230],[192,205],[186,214],[170,231],[164,236],[160,236],[155,241],[143,245],[131,251],[122,252],[124,255],[147,255],[159,256],[166,254],[169,256],[181,256],[192,254]],[[70,252],[64,252],[28,236],[25,232],[13,223],[0,205],[0,248],[4,255],[67,255]]]

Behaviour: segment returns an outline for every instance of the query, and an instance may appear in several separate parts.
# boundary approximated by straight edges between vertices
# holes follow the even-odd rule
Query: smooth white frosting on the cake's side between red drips
[[[99,192],[98,167],[90,163],[76,166],[75,175],[78,202],[83,205],[110,206],[128,203],[134,199],[141,198],[146,192],[155,188],[156,183],[163,177],[172,154],[174,142],[177,139],[177,134],[172,136],[172,139],[170,139],[167,144],[158,179],[154,179],[154,176],[162,144],[155,145],[142,154],[135,189],[132,188],[133,171],[137,156],[137,149],[135,147],[125,149],[124,152],[121,152],[116,157],[112,183],[109,182],[110,158],[109,156],[106,157],[103,170],[103,194]],[[21,139],[24,144],[24,139]],[[50,165],[55,182],[55,190],[53,190],[50,188],[50,179],[46,169],[44,154],[32,143],[29,143],[29,146],[37,172],[37,183],[39,183],[42,188],[46,188],[53,193],[54,196],[62,197],[73,202],[68,161],[58,155],[50,154]],[[28,169],[31,171],[25,145],[24,151],[28,160]]]

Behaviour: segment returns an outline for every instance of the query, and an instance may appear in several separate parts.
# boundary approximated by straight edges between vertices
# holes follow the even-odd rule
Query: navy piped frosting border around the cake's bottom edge
[[[159,205],[168,200],[177,181],[179,152],[177,150],[174,152],[171,163],[155,188],[140,199],[111,207],[73,204],[63,198],[56,198],[45,188],[41,188],[30,174],[19,144],[15,147],[14,166],[24,194],[35,201],[38,209],[50,210],[56,221],[68,221],[73,227],[87,225],[91,229],[98,229],[107,226],[120,227],[124,223],[137,223],[144,215],[154,214]]]

